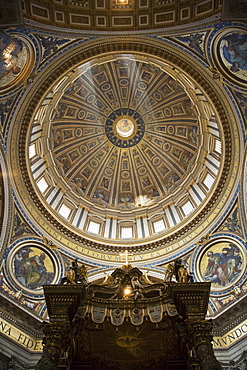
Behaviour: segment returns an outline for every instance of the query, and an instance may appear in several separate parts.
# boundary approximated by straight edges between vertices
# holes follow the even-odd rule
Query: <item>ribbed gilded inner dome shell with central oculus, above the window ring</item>
[[[126,211],[149,216],[179,202],[178,223],[187,216],[184,205],[189,213],[195,210],[218,172],[195,202],[198,173],[202,180],[209,174],[207,139],[212,136],[212,151],[220,139],[207,132],[196,91],[169,72],[119,54],[79,67],[57,92],[55,87],[39,122],[44,122],[39,143],[47,153],[47,184],[51,177],[71,205],[100,209],[102,216]],[[213,111],[207,114],[217,128]],[[47,190],[43,195],[51,203]]]

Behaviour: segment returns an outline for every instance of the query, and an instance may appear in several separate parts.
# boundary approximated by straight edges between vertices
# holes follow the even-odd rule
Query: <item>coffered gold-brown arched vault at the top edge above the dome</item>
[[[221,8],[218,0],[22,1],[23,16],[30,21],[100,32],[177,27],[214,16]]]

